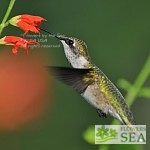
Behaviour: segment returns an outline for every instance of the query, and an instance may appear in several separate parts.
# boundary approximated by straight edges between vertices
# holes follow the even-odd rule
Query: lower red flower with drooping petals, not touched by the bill
[[[0,44],[13,45],[14,48],[12,49],[12,52],[14,55],[16,55],[19,47],[24,48],[26,50],[26,53],[28,54],[28,45],[38,43],[17,36],[5,36],[2,39],[0,39]]]

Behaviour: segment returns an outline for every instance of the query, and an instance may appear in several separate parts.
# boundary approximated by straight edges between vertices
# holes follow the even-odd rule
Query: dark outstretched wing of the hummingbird
[[[89,80],[88,82],[85,82],[83,80],[84,77],[92,69],[75,69],[67,67],[50,67],[50,66],[47,68],[63,83],[72,86],[80,94],[83,93],[88,87],[88,85],[93,82],[92,80]]]

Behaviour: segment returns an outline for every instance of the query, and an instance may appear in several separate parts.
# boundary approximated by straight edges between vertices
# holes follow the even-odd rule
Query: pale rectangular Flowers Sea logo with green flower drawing
[[[146,125],[95,125],[95,144],[146,144]]]

